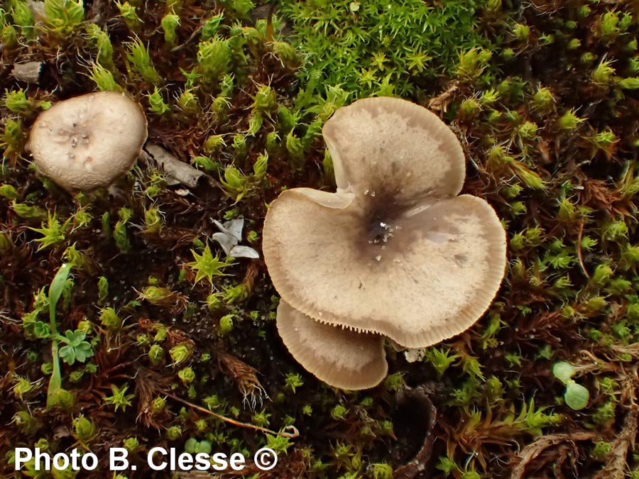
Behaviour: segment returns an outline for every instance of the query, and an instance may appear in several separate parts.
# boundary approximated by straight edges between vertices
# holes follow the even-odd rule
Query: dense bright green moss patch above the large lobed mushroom
[[[481,2],[420,0],[281,2],[305,58],[302,80],[320,75],[320,92],[340,86],[354,97],[379,92],[386,81],[400,96],[416,82],[449,75],[459,50],[483,45],[476,13]]]

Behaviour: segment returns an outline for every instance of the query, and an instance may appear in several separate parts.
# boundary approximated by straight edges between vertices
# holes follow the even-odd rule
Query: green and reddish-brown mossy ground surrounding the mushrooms
[[[0,11],[3,477],[50,477],[13,472],[13,448],[35,444],[103,462],[124,444],[138,457],[128,478],[149,477],[153,446],[267,444],[280,464],[247,476],[639,477],[636,2],[43,7],[9,0]],[[37,84],[9,75],[28,61],[43,63]],[[38,111],[95,89],[126,90],[150,140],[220,184],[172,185],[142,161],[110,194],[71,197],[38,177],[24,151]],[[509,265],[473,328],[416,363],[389,351],[383,385],[343,392],[285,351],[263,262],[225,262],[208,238],[212,219],[244,217],[243,243],[259,250],[281,189],[331,187],[324,121],[379,94],[429,106],[458,134],[464,192],[503,219]],[[93,355],[65,356],[67,393],[48,409],[48,285],[63,263],[74,266],[58,330],[84,334],[88,346],[74,347]],[[589,392],[583,409],[564,400],[561,360]],[[422,445],[425,469],[403,468]]]

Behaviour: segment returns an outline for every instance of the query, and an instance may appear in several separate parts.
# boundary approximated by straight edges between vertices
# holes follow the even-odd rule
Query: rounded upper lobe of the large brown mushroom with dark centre
[[[403,203],[452,197],[464,185],[466,163],[459,140],[435,114],[410,101],[355,101],[335,111],[322,135],[338,192],[391,194]]]

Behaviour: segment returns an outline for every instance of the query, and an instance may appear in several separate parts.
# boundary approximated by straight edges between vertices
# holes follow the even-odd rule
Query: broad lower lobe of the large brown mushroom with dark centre
[[[490,305],[506,232],[484,199],[376,209],[379,219],[356,202],[329,207],[299,190],[271,204],[262,244],[273,285],[293,308],[417,348],[461,333]]]

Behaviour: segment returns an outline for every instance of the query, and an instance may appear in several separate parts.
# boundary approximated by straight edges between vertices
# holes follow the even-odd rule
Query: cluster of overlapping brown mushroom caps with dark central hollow
[[[384,336],[430,346],[484,314],[506,268],[506,232],[484,199],[457,196],[464,153],[427,109],[361,99],[322,133],[337,192],[280,194],[263,253],[289,351],[329,385],[364,389],[386,375]]]

